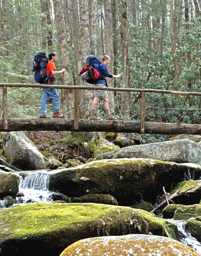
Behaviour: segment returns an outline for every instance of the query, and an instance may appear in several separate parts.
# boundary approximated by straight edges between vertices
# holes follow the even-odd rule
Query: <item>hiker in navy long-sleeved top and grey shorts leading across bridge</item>
[[[108,55],[104,55],[102,58],[102,63],[100,64],[99,67],[99,73],[100,76],[105,76],[105,77],[109,77],[109,78],[120,78],[120,74],[118,75],[112,75],[108,72],[107,70],[107,66],[109,65],[109,61],[110,61],[110,57]],[[95,84],[95,86],[97,87],[106,87],[106,80],[98,80]],[[100,117],[95,115],[95,110],[98,104],[99,99],[103,99],[104,102],[104,109],[106,111],[106,120],[117,120],[117,118],[115,116],[112,116],[112,114],[109,111],[109,100],[108,100],[108,95],[107,92],[105,90],[96,90],[95,93],[95,98],[92,102],[92,111],[91,111],[91,115],[89,117],[90,120],[100,120]]]

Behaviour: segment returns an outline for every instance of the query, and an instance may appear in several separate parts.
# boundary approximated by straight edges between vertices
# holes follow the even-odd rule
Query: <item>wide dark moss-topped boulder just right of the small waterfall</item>
[[[171,190],[184,178],[184,173],[200,177],[200,166],[181,166],[177,163],[152,159],[123,158],[97,160],[68,169],[49,171],[49,190],[69,197],[86,194],[109,194],[120,205],[132,205],[134,200],[155,203],[163,191]]]

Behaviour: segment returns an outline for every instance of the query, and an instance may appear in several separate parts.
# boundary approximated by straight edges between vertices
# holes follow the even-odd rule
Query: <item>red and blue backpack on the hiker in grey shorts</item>
[[[96,84],[97,80],[105,79],[104,76],[100,76],[98,71],[100,63],[96,56],[89,55],[86,59],[86,66],[84,66],[79,73],[80,78],[88,84]]]

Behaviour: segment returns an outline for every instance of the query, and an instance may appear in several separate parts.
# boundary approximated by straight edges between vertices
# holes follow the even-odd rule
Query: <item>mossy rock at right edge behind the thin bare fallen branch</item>
[[[201,180],[184,180],[178,183],[174,189],[170,191],[170,195],[177,192],[174,202],[178,204],[198,204],[201,198]]]

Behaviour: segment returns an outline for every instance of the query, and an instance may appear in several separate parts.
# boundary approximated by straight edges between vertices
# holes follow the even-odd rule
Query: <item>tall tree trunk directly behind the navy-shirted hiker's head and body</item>
[[[112,3],[111,0],[104,0],[104,12],[105,12],[105,47],[106,55],[110,57],[110,65],[108,68],[109,73],[114,74],[114,53],[113,53],[113,43],[112,43]],[[107,79],[108,86],[114,87],[113,79]],[[114,93],[109,92],[109,110],[114,113]]]

